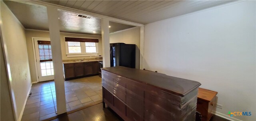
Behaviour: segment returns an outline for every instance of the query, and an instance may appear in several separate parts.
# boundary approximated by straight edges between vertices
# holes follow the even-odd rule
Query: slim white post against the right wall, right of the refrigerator
[[[144,27],[140,27],[140,69],[143,69],[144,61]]]

